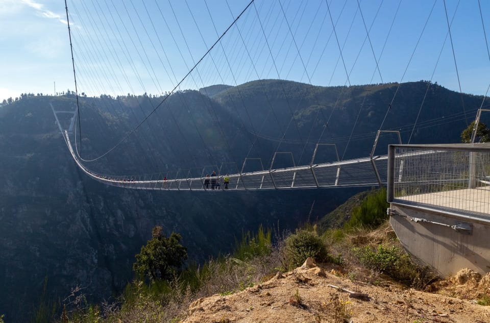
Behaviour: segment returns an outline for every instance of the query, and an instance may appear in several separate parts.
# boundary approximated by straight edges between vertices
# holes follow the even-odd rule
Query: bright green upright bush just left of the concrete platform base
[[[344,228],[347,230],[356,228],[375,229],[388,218],[387,207],[386,189],[375,191],[367,195],[362,204],[352,210],[352,216]]]

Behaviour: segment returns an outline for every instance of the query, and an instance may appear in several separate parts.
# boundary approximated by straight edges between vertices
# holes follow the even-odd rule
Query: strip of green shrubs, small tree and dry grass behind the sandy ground
[[[386,274],[407,286],[422,288],[433,276],[412,263],[396,240],[386,236],[388,225],[381,221],[385,213],[385,206],[380,202],[382,194],[383,190],[371,192],[358,201],[359,206],[353,208],[351,217],[357,214],[355,223],[359,223],[358,227],[354,226],[354,221],[351,222],[347,233],[346,230],[331,229],[320,236],[315,225],[307,225],[305,229],[277,238],[272,243],[271,231],[260,226],[256,234],[242,234],[233,254],[211,259],[203,265],[188,264],[182,270],[179,268],[185,259],[186,249],[180,244],[180,236],[172,233],[166,238],[161,234],[161,227],[155,227],[152,239],[136,256],[135,271],[139,279],[126,287],[118,301],[111,305],[93,305],[87,303],[83,295],[72,293],[78,303],[69,300],[71,309],[62,322],[178,322],[186,315],[193,300],[213,294],[226,296],[260,284],[272,278],[277,268],[289,270],[301,265],[307,257],[314,258],[317,263],[328,261],[337,264],[341,269],[335,275],[351,280],[379,284],[379,276],[372,274],[368,278],[362,274],[365,270],[356,271],[357,268],[366,268]],[[366,229],[377,223],[382,225],[377,230],[380,234]],[[486,301],[482,299],[482,302]],[[333,310],[335,321],[339,322],[351,315],[349,301],[340,300],[338,296],[332,296],[330,302],[310,305],[305,303],[297,289],[289,304],[304,309],[311,306],[320,318]],[[227,321],[227,318],[220,321]]]

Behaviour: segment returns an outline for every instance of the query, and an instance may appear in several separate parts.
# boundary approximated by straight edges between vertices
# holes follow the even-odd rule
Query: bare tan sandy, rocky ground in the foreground
[[[383,278],[363,283],[307,260],[241,292],[195,301],[182,323],[490,322],[490,306],[477,304],[490,297],[490,274],[463,269],[428,290]]]

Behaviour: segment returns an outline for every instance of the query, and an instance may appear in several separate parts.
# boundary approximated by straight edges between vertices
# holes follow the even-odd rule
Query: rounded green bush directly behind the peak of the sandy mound
[[[288,268],[301,266],[306,258],[316,261],[327,259],[327,248],[314,231],[301,230],[286,239],[286,262]]]

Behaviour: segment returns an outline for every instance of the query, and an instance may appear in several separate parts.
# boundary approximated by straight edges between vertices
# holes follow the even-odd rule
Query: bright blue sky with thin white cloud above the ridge
[[[490,2],[480,2],[490,41]],[[78,91],[170,91],[248,3],[68,0]],[[432,80],[459,91],[445,4],[461,89],[485,94],[490,59],[477,0],[256,0],[179,89],[281,78],[323,86]],[[0,100],[53,94],[54,82],[57,92],[75,90],[64,1],[0,1],[0,46]]]

